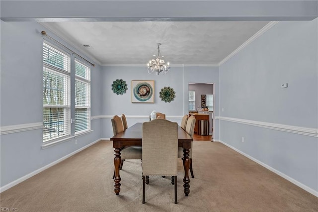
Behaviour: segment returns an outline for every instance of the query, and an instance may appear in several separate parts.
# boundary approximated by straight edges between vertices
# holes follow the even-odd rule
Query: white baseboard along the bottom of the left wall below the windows
[[[78,150],[76,150],[76,151],[74,151],[74,152],[72,152],[72,153],[70,153],[70,154],[68,154],[68,155],[66,155],[66,156],[64,156],[64,157],[62,157],[62,158],[60,158],[60,159],[58,159],[58,160],[56,160],[56,161],[54,161],[54,162],[52,162],[52,163],[46,165],[46,166],[43,166],[42,168],[39,168],[39,169],[35,170],[34,172],[31,172],[31,173],[29,173],[29,174],[27,174],[27,175],[24,175],[23,177],[20,177],[19,179],[15,180],[15,181],[13,181],[13,182],[11,182],[11,183],[8,183],[8,184],[6,184],[6,185],[4,185],[4,186],[2,186],[2,187],[0,188],[0,193],[1,193],[1,192],[4,192],[5,190],[7,190],[7,189],[9,189],[9,188],[11,188],[11,187],[13,187],[13,186],[15,186],[15,185],[17,185],[17,184],[23,182],[23,181],[25,181],[25,180],[27,180],[27,179],[29,179],[30,177],[32,177],[32,176],[34,176],[34,175],[36,175],[36,174],[38,174],[38,173],[40,173],[40,172],[42,172],[42,171],[44,171],[44,170],[50,168],[51,166],[54,166],[55,164],[60,163],[61,161],[65,160],[65,159],[67,159],[67,158],[69,158],[69,157],[71,157],[72,155],[75,155],[76,153],[78,153],[78,152],[80,152],[80,151],[86,149],[87,147],[93,145],[94,143],[97,143],[97,142],[100,141],[100,140],[101,140],[101,139],[98,139],[98,140],[96,140],[96,141],[93,141],[93,142],[87,144],[86,146],[83,146],[83,147],[79,148]]]

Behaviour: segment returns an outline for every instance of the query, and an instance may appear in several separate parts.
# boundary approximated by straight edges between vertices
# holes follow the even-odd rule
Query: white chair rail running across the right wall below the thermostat
[[[293,126],[293,125],[286,125],[286,124],[269,123],[269,122],[263,122],[263,121],[231,118],[231,117],[225,117],[225,116],[215,116],[215,119],[242,123],[242,124],[247,124],[252,126],[258,126],[258,127],[268,128],[268,129],[274,129],[274,130],[279,130],[284,132],[291,132],[291,133],[307,135],[312,137],[318,137],[318,128],[308,128],[308,127]]]

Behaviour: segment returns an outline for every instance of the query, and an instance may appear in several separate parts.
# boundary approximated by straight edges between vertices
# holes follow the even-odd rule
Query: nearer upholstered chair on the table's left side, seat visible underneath
[[[117,135],[120,132],[124,131],[123,123],[121,118],[118,115],[114,115],[114,117],[111,119],[111,123],[113,126],[113,132],[114,135]],[[124,147],[120,151],[121,156],[121,164],[120,169],[123,167],[124,160],[126,159],[142,159],[142,147],[141,146],[127,146]],[[114,178],[114,177],[113,177]]]

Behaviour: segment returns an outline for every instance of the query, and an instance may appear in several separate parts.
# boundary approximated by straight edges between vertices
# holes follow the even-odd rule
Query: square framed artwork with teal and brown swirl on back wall
[[[131,102],[132,103],[154,103],[155,81],[154,80],[132,80]]]

